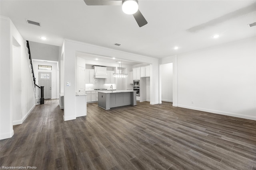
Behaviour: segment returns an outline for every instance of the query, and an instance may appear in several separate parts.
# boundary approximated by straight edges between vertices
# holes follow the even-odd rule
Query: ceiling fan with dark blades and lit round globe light
[[[126,14],[132,14],[139,27],[146,25],[148,22],[138,10],[138,0],[84,0],[86,5],[122,5],[122,10]]]

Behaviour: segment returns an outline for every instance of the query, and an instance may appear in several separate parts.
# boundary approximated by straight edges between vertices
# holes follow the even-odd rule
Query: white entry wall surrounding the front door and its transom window
[[[51,72],[52,73],[52,99],[58,99],[59,98],[59,88],[58,88],[58,70],[57,70],[57,62],[43,62],[39,60],[32,59],[33,63],[33,70],[34,70],[34,76],[36,78],[36,84],[38,83],[38,72]],[[38,70],[38,65],[47,65],[52,66],[52,70]]]

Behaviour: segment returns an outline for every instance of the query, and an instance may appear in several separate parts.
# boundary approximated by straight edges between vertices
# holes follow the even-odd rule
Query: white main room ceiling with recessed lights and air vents
[[[24,39],[57,46],[67,38],[163,58],[256,36],[256,27],[247,25],[256,22],[256,0],[139,0],[139,9],[148,21],[143,27],[121,6],[87,6],[83,0],[0,0],[0,14],[12,20]],[[220,37],[213,39],[214,34]]]

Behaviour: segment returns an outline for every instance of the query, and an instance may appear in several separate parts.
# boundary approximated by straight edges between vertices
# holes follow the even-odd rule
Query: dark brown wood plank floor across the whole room
[[[108,111],[92,103],[86,117],[63,121],[58,100],[45,100],[0,147],[0,168],[256,170],[256,121],[168,102]]]

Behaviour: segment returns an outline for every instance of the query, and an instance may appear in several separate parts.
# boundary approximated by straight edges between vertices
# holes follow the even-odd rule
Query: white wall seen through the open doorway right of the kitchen
[[[172,102],[172,63],[162,64],[162,101]]]

